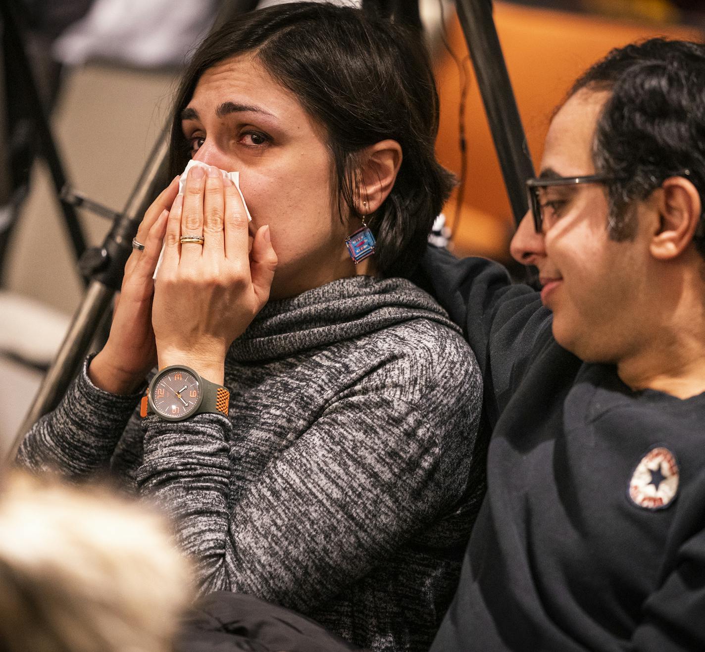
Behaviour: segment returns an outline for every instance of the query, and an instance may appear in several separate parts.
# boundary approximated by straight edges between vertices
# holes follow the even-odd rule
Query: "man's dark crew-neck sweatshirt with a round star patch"
[[[429,248],[484,375],[488,490],[431,652],[705,649],[705,395],[632,391],[539,295]]]

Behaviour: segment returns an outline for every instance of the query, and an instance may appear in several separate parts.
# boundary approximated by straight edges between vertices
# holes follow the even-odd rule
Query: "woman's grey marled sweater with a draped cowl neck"
[[[84,369],[18,462],[109,467],[156,496],[202,591],[255,593],[374,650],[427,650],[481,493],[482,386],[458,328],[408,281],[345,278],[266,305],[225,383],[227,419],[140,423],[138,395]]]

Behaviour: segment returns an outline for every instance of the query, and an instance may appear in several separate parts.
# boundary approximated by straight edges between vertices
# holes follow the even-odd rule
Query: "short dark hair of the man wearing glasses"
[[[597,121],[593,160],[608,185],[609,233],[635,233],[631,202],[646,199],[669,176],[705,190],[705,46],[656,38],[613,49],[573,85],[575,92],[611,92]],[[705,217],[694,244],[705,257]]]

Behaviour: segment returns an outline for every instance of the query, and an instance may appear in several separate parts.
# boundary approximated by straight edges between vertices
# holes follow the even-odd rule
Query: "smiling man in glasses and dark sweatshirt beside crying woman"
[[[432,651],[703,649],[705,47],[596,63],[528,185],[511,251],[540,295],[479,259],[425,263],[494,427]]]

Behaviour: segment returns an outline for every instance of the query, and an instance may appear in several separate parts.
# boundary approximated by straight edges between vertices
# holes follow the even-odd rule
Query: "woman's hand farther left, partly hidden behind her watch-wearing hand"
[[[157,364],[157,347],[152,331],[154,268],[166,232],[168,209],[178,193],[178,177],[147,209],[137,229],[143,251],[133,249],[125,264],[121,293],[116,298],[110,336],[94,357],[88,375],[94,385],[114,394],[130,394]]]

